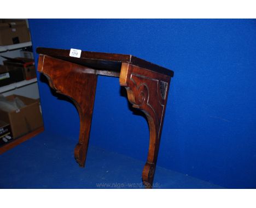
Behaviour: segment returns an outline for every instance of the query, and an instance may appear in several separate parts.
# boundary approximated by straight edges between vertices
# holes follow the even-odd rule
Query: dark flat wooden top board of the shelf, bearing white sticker
[[[76,58],[69,56],[69,52],[70,50],[56,48],[37,48],[37,53],[39,54],[59,58],[79,65],[91,66],[96,69],[119,71],[122,63],[129,63],[150,71],[173,77],[172,70],[168,70],[162,66],[147,62],[146,60],[132,55],[82,51],[80,58]]]

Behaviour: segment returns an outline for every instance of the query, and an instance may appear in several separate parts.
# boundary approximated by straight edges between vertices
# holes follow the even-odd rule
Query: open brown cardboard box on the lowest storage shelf
[[[10,95],[7,96],[7,99],[13,100],[15,97],[19,97],[26,106],[10,112],[0,109],[0,120],[10,124],[13,138],[20,137],[43,126],[38,100],[20,95]]]

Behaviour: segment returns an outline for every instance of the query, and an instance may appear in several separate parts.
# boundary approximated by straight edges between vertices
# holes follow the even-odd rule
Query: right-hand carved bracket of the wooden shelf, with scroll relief
[[[123,64],[120,85],[127,90],[132,106],[147,116],[150,140],[148,159],[142,173],[146,188],[153,184],[170,77],[131,64]]]

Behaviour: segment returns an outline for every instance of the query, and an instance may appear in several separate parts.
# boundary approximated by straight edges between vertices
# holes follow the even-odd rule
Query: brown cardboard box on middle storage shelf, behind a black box
[[[37,77],[36,67],[34,66],[33,59],[21,58],[21,57],[18,57],[18,58],[4,57],[4,58],[8,59],[3,61],[3,64],[5,66],[8,66],[8,68],[10,68],[11,66],[13,66],[13,68],[22,68],[24,79],[29,80]]]

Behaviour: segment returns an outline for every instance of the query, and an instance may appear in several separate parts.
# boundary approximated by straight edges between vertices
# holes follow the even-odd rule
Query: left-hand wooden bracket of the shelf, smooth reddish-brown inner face
[[[84,167],[97,84],[96,70],[40,55],[38,71],[48,78],[51,88],[69,97],[77,107],[80,133],[79,142],[74,149],[74,157],[79,166]]]

